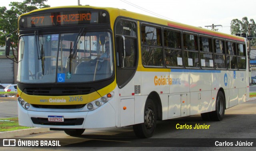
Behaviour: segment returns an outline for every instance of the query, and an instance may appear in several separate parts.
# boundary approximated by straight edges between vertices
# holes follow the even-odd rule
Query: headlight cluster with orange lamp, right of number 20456
[[[86,104],[86,106],[82,110],[80,110],[80,112],[95,110],[95,109],[99,108],[100,106],[102,106],[103,104],[105,104],[106,102],[108,102],[108,100],[110,100],[113,96],[114,96],[114,92],[110,92],[110,93],[102,96],[101,98],[98,98],[98,99]]]

